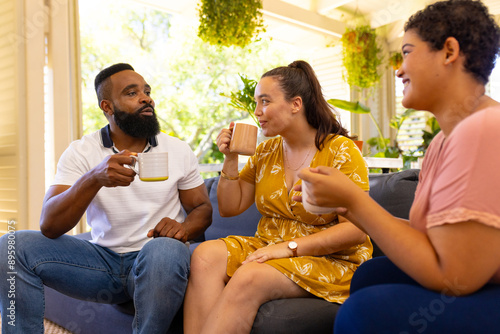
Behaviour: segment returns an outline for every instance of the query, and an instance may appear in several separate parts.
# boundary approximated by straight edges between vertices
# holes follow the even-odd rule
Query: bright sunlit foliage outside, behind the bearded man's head
[[[240,74],[260,78],[295,60],[286,58],[294,57],[289,50],[273,49],[267,40],[244,48],[204,43],[196,27],[150,7],[127,2],[116,6],[110,0],[84,4],[80,24],[85,134],[107,124],[97,105],[95,76],[111,64],[128,62],[152,87],[162,131],[186,141],[200,163],[221,162],[214,143],[220,129],[249,118],[227,97],[243,88]]]

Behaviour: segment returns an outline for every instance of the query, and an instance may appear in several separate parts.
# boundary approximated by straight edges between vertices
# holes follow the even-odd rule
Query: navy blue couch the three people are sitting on
[[[253,235],[260,214],[255,205],[236,217],[223,218],[217,205],[219,177],[205,180],[213,205],[212,225],[197,242],[217,239],[227,235]],[[391,214],[408,218],[418,170],[397,173],[371,174],[370,196]],[[79,237],[87,237],[88,234]],[[383,253],[374,244],[373,256]],[[339,304],[319,298],[278,299],[263,304],[255,319],[252,333],[332,333]],[[133,303],[123,305],[98,304],[67,297],[45,287],[45,317],[76,334],[126,334],[132,333]],[[182,333],[182,312],[174,320],[169,333]]]

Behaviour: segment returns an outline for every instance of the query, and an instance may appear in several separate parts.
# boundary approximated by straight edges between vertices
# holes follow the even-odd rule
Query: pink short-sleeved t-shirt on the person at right
[[[448,137],[439,133],[425,155],[410,225],[426,233],[464,221],[500,229],[500,107],[472,114]]]

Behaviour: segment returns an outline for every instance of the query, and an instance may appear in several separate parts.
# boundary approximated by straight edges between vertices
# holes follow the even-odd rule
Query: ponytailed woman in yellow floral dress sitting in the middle
[[[256,203],[254,237],[229,236],[198,246],[184,303],[185,333],[250,332],[259,307],[273,299],[317,296],[342,303],[351,277],[371,258],[369,238],[336,214],[315,215],[301,202],[303,167],[339,169],[367,191],[368,168],[336,119],[304,61],[266,72],[255,89],[255,115],[266,137],[238,173],[229,152],[232,126],[217,137],[225,160],[217,188],[221,216]],[[276,136],[276,137],[275,137]]]

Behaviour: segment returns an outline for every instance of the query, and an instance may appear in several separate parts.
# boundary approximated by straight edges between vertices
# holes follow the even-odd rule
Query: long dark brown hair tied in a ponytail
[[[318,150],[322,149],[330,133],[351,138],[335,117],[333,106],[326,102],[318,78],[307,62],[296,60],[288,66],[264,73],[262,78],[264,77],[275,77],[278,80],[287,101],[296,96],[302,98],[307,122],[318,130],[315,138]]]

